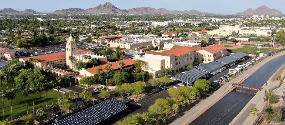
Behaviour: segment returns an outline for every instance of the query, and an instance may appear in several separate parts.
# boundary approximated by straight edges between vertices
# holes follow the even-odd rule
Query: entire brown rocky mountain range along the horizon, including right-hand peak
[[[31,9],[26,9],[25,11],[16,11],[14,9],[8,8],[0,10],[0,13],[3,14],[43,14],[38,13]],[[121,10],[118,7],[112,5],[111,3],[107,2],[103,5],[98,5],[94,8],[89,9],[80,9],[80,8],[70,8],[70,9],[63,9],[63,10],[56,10],[54,13],[49,14],[120,14],[120,15],[160,15],[160,14],[190,14],[190,15],[213,15],[213,13],[203,13],[197,10],[185,10],[185,11],[169,11],[167,9],[154,9],[151,7],[137,7],[129,10]],[[282,15],[282,12],[276,9],[270,9],[266,6],[261,6],[256,10],[248,9],[243,13],[237,13],[236,15]]]

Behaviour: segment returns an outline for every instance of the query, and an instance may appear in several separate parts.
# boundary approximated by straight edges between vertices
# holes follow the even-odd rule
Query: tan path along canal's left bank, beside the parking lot
[[[239,77],[231,80],[229,83],[226,83],[223,85],[219,90],[217,90],[212,96],[205,99],[203,102],[201,102],[198,106],[195,108],[192,108],[188,112],[184,114],[181,118],[174,121],[173,125],[188,125],[189,123],[193,122],[196,118],[198,118],[201,114],[203,114],[206,110],[211,108],[215,103],[217,103],[219,100],[221,100],[225,95],[227,95],[229,92],[231,92],[234,87],[231,86],[232,83],[239,83],[243,82],[247,76],[252,75],[255,73],[260,67],[262,67],[267,62],[284,55],[285,52],[281,52],[279,54],[276,54],[275,56],[270,56],[267,59],[263,60],[262,62],[254,65],[250,69],[248,69],[245,73],[240,75]]]

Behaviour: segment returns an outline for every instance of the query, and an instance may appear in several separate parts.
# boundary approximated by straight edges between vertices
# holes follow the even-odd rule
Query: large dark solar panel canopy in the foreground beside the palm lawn
[[[94,125],[125,110],[126,108],[128,108],[128,106],[111,98],[59,120],[52,125]]]

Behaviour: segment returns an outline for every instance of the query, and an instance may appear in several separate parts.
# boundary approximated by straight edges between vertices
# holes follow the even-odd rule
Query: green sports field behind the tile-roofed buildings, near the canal
[[[249,47],[249,46],[244,46],[241,49],[228,49],[228,51],[231,50],[233,53],[236,52],[243,52],[243,53],[247,53],[247,54],[251,54],[251,53],[258,53],[258,48],[257,47]],[[273,49],[274,51],[277,51],[279,49]],[[271,48],[262,48],[260,49],[261,52],[271,52]]]

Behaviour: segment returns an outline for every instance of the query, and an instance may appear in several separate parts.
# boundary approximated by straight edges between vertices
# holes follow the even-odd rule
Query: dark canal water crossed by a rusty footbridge
[[[270,78],[285,63],[285,55],[280,56],[258,69],[243,84],[262,87],[266,83],[266,75]],[[190,125],[227,125],[241,112],[255,93],[245,89],[235,89],[219,102],[214,104]]]

